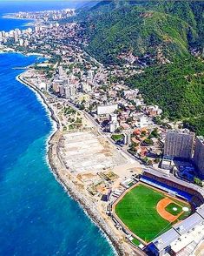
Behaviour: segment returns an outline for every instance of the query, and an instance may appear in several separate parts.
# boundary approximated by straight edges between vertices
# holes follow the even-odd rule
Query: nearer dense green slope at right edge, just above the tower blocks
[[[127,79],[148,104],[159,104],[171,119],[200,117],[204,113],[204,64],[194,57],[151,67]]]

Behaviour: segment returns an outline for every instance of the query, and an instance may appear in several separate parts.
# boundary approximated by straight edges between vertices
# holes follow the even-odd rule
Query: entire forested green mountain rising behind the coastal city
[[[190,53],[204,49],[203,1],[101,1],[78,19],[86,51],[103,64],[122,64],[129,51],[148,55],[150,66],[126,82],[164,116],[204,135],[204,63]]]

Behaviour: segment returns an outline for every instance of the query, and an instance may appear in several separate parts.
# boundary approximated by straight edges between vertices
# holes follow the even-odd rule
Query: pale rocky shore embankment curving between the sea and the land
[[[100,212],[98,212],[98,210],[96,209],[95,203],[87,199],[85,195],[83,195],[82,192],[80,192],[77,189],[76,182],[72,180],[71,174],[65,168],[65,166],[63,166],[62,160],[60,159],[57,153],[57,147],[60,138],[62,138],[62,131],[60,128],[61,125],[59,119],[56,117],[55,111],[50,106],[48,99],[42,91],[40,91],[35,85],[25,81],[23,77],[21,77],[21,75],[17,76],[16,79],[22,84],[25,84],[26,86],[30,87],[30,89],[36,91],[36,93],[43,100],[43,104],[46,104],[46,106],[48,107],[50,112],[50,118],[56,123],[56,131],[53,132],[48,141],[49,165],[51,167],[51,171],[54,173],[56,177],[56,180],[61,185],[63,185],[63,188],[66,190],[66,192],[68,192],[69,195],[82,206],[84,212],[88,214],[89,218],[93,220],[95,225],[98,226],[102,230],[102,232],[104,232],[107,235],[112,246],[115,247],[116,253],[118,255],[128,255],[127,253],[125,253],[125,250],[122,246],[122,241],[120,241],[115,236],[115,233],[110,229],[109,225],[105,222],[104,219],[102,219]]]

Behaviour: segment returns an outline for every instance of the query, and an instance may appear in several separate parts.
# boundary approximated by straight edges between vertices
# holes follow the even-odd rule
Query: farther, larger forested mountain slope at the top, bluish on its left
[[[126,51],[140,57],[150,53],[154,58],[162,50],[170,61],[186,57],[189,46],[204,40],[199,18],[204,3],[194,6],[185,1],[97,3],[83,13],[89,37],[86,50],[104,64],[119,63],[118,55]]]

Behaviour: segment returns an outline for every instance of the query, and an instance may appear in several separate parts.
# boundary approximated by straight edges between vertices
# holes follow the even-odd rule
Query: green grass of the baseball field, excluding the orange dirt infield
[[[156,211],[157,203],[166,197],[162,192],[140,184],[127,192],[115,205],[115,213],[135,235],[146,242],[150,242],[172,226]],[[189,207],[188,204],[176,199],[173,201],[181,206]],[[180,219],[184,219],[189,213],[184,212]]]

